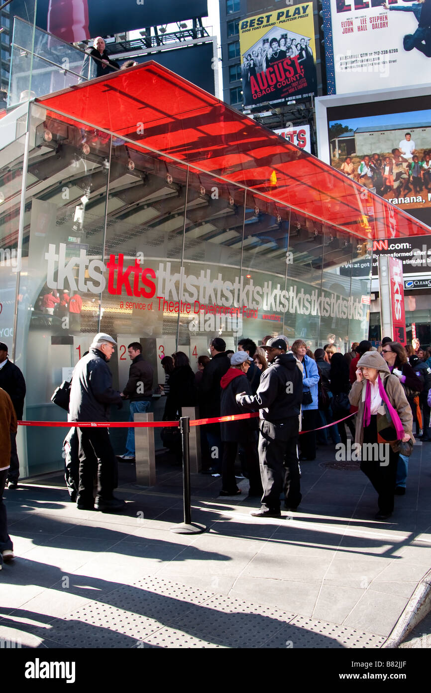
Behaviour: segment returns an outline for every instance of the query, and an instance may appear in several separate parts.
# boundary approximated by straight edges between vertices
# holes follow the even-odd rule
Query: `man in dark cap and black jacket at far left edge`
[[[0,387],[5,390],[17,414],[17,420],[22,421],[24,411],[24,397],[26,396],[26,381],[15,363],[8,359],[8,347],[0,342]],[[19,459],[17,454],[17,432],[10,434],[10,467],[8,470],[8,489],[14,490],[18,486]]]

